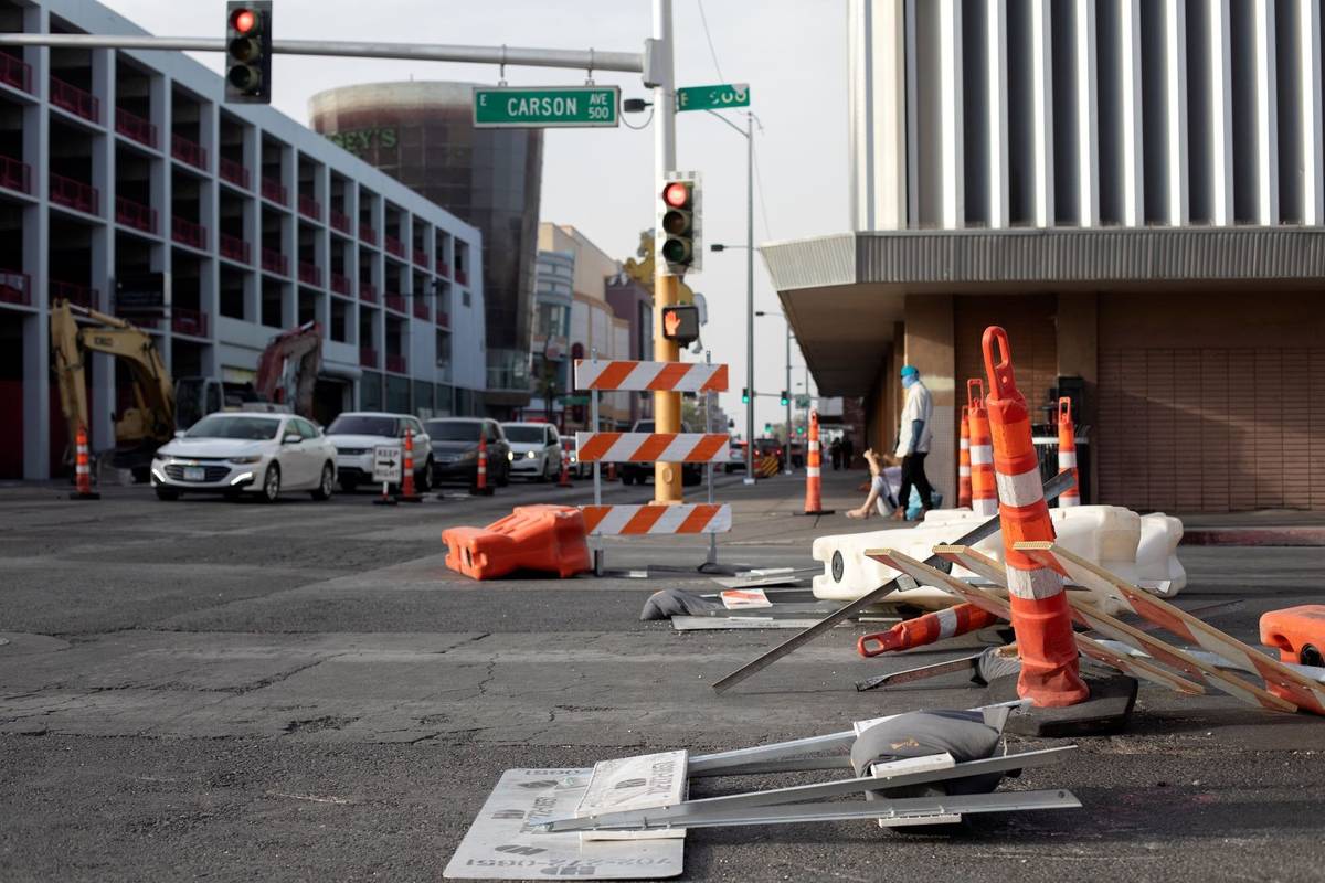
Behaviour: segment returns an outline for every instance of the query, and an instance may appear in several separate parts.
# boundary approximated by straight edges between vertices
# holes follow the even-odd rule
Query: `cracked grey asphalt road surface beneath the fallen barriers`
[[[857,477],[859,478],[859,477]],[[855,479],[828,477],[845,508]],[[62,490],[62,488],[57,488]],[[0,488],[0,879],[435,880],[501,770],[717,751],[969,707],[959,676],[852,683],[969,651],[863,661],[837,629],[725,696],[709,683],[787,633],[639,622],[649,592],[712,590],[704,549],[616,544],[666,577],[452,579],[439,532],[514,502],[383,510],[370,495],[276,507],[105,488]],[[807,565],[799,486],[723,490],[723,560]],[[633,496],[632,496],[633,494]],[[648,491],[610,491],[612,502]],[[1253,641],[1271,608],[1321,600],[1321,549],[1185,549],[1199,606]],[[1018,748],[1043,743],[1012,740]],[[868,823],[696,830],[688,880],[1302,880],[1325,859],[1325,721],[1142,686],[1128,732],[1079,741],[1008,788],[1069,788],[1080,812],[980,818],[953,834]],[[790,784],[702,781],[697,796]]]

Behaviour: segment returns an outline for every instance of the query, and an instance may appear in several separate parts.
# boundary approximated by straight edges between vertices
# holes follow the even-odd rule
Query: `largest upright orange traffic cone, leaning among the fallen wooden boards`
[[[1075,706],[1089,699],[1090,690],[1077,669],[1077,647],[1063,576],[1016,549],[1018,543],[1052,540],[1053,522],[1049,520],[1049,507],[1040,485],[1040,461],[1031,441],[1031,416],[1012,372],[1007,331],[998,326],[986,328],[983,349],[990,381],[984,402],[994,437],[1008,602],[1022,657],[1016,691],[1040,707]]]

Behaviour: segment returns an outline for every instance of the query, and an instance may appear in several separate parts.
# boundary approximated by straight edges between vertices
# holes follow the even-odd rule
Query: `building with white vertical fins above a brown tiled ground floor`
[[[762,252],[824,395],[930,478],[988,324],[1032,418],[1080,381],[1089,494],[1325,508],[1325,173],[1313,0],[851,0],[851,218]]]

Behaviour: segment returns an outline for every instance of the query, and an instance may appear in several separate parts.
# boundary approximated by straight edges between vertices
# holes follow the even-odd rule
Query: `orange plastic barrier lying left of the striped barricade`
[[[594,569],[584,515],[574,506],[517,506],[488,527],[441,532],[447,567],[476,580],[514,571],[545,571],[562,579]]]

